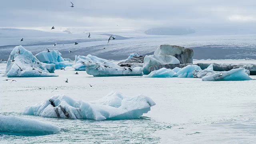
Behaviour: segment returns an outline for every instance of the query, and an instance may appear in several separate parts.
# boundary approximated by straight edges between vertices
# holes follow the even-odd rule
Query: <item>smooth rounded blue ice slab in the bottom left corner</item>
[[[56,134],[60,131],[58,126],[30,120],[28,118],[19,118],[16,116],[3,116],[0,114],[0,134],[10,134],[16,136],[43,136]]]

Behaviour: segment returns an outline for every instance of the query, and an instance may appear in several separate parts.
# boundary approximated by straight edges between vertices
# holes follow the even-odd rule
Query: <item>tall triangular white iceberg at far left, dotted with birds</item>
[[[57,76],[50,74],[45,66],[33,54],[16,46],[8,59],[5,76],[7,77],[45,77]]]

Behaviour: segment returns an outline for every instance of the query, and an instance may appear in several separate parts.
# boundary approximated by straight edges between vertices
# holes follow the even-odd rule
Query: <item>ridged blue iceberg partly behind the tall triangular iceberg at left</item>
[[[72,64],[64,61],[64,59],[61,57],[61,53],[58,50],[51,50],[50,52],[40,52],[36,54],[36,58],[40,62],[44,62],[46,64],[55,64],[56,69],[66,68],[66,66],[72,66]]]

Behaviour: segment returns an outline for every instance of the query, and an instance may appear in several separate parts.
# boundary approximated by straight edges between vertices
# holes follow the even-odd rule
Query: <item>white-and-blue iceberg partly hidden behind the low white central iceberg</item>
[[[75,56],[76,64],[74,64],[72,67],[75,70],[86,70],[86,66],[84,65],[84,63],[86,63],[86,62],[96,62],[98,64],[102,64],[103,62],[112,63],[110,60],[98,58],[97,56],[92,56],[92,55],[88,54],[87,56]]]

